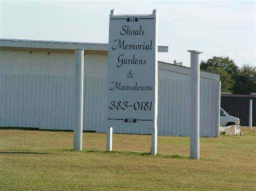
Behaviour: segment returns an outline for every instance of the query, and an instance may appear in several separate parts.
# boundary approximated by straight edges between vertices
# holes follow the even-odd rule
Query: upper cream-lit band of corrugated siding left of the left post
[[[32,51],[0,51],[1,74],[73,76],[74,54]]]

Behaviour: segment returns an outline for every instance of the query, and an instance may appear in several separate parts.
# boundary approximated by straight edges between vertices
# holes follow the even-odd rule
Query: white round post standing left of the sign
[[[84,101],[84,51],[75,50],[75,126],[73,149],[82,151]]]

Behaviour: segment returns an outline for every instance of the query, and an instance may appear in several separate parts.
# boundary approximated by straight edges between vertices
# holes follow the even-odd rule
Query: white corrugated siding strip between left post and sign
[[[105,132],[107,55],[86,54],[84,63],[83,129]]]

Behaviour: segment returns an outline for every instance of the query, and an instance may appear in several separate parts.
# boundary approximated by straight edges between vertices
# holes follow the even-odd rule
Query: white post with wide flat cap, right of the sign
[[[200,122],[200,51],[189,50],[190,52],[190,158],[199,159],[199,122]]]

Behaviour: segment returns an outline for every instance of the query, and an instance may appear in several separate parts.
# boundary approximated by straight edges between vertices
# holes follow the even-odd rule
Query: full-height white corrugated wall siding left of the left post
[[[0,126],[72,129],[71,53],[0,51]]]

